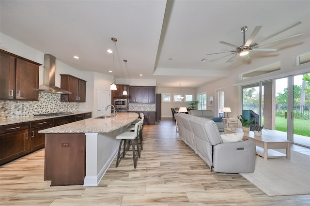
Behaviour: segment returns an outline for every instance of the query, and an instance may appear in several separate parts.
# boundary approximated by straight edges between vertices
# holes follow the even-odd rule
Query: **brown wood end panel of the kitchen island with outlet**
[[[46,134],[44,180],[51,180],[51,186],[83,185],[85,168],[84,133]]]

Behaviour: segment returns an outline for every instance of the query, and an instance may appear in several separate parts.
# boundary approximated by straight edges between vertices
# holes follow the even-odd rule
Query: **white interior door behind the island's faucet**
[[[97,117],[110,114],[106,107],[111,104],[111,90],[97,89]]]

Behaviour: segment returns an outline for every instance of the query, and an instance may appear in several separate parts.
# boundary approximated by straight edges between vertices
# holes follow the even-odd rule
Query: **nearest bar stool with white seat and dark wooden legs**
[[[116,167],[118,167],[118,164],[119,164],[119,159],[123,159],[125,158],[125,151],[126,151],[126,141],[128,140],[129,143],[131,143],[132,145],[132,156],[133,156],[133,160],[134,160],[134,168],[136,169],[137,167],[137,162],[136,162],[136,151],[138,152],[138,156],[140,158],[140,149],[139,149],[139,143],[138,143],[138,140],[137,140],[137,137],[139,136],[139,130],[140,130],[140,127],[141,127],[141,121],[137,122],[135,124],[135,130],[134,132],[123,132],[119,135],[116,136],[116,139],[120,139],[121,142],[120,142],[120,146],[118,148],[118,154],[117,154],[117,160],[116,160]],[[122,144],[124,142],[124,149],[123,149],[123,152],[121,153],[121,149],[122,149]],[[136,150],[136,147],[135,145],[137,145],[137,150]],[[129,150],[129,147],[128,147],[128,150]],[[121,157],[122,156],[122,157]]]

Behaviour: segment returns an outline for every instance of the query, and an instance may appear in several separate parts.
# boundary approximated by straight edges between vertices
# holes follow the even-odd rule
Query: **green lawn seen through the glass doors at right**
[[[276,117],[276,130],[287,132],[287,119]],[[294,133],[310,137],[310,120],[294,119]]]

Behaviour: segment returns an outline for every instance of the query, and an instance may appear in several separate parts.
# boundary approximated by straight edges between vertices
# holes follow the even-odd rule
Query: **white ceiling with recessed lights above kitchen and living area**
[[[229,76],[241,64],[265,58],[250,52],[250,60],[209,53],[232,51],[220,41],[241,46],[256,26],[260,39],[297,21],[302,24],[268,41],[303,33],[262,48],[290,47],[310,36],[309,0],[0,0],[0,32],[56,56],[81,71],[111,74],[111,37],[117,38],[115,77],[156,79],[161,87],[199,87]],[[260,47],[261,48],[261,47]],[[77,55],[80,59],[73,59]],[[272,55],[277,58],[277,52]],[[173,60],[169,58],[173,57]],[[207,58],[205,62],[201,59]],[[209,59],[211,58],[211,59]],[[258,61],[255,61],[258,62]],[[262,66],[262,65],[260,65]],[[143,76],[139,76],[143,74]],[[128,77],[128,74],[127,74]]]

